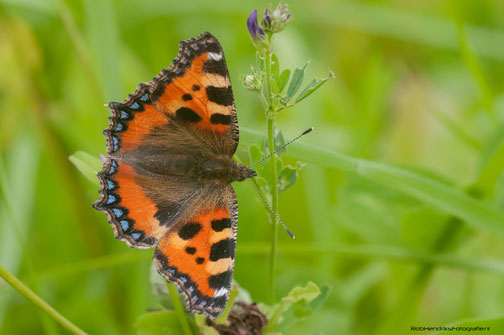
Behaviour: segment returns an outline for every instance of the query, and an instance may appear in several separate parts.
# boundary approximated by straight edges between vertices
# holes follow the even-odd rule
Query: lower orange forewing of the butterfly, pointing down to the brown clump
[[[209,204],[161,239],[154,263],[183,293],[187,310],[216,318],[231,290],[238,207],[230,185]]]

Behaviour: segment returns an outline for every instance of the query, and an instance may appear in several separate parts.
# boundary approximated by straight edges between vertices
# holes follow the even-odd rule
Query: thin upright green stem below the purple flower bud
[[[275,151],[275,134],[274,123],[276,116],[276,111],[273,107],[273,90],[271,87],[271,35],[268,35],[268,45],[264,52],[264,63],[265,63],[265,77],[266,77],[266,101],[268,102],[268,108],[266,110],[266,117],[268,119],[268,150],[270,153]],[[278,214],[278,171],[276,167],[276,157],[271,157],[271,207],[275,213]],[[269,303],[273,305],[275,303],[275,269],[276,269],[276,258],[277,258],[277,244],[278,244],[278,221],[274,215],[271,215],[271,250],[270,250],[270,268],[269,268],[269,279],[270,279],[270,290],[269,290]]]

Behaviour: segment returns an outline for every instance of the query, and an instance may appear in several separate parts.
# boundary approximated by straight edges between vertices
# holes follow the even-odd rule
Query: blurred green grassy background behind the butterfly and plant
[[[297,238],[279,232],[278,295],[310,280],[332,291],[322,309],[284,332],[404,334],[503,318],[504,2],[288,4],[294,20],[275,41],[280,66],[310,59],[310,75],[333,70],[336,79],[281,112],[284,136],[314,126],[304,142],[400,167],[481,210],[480,224],[471,224],[446,210],[443,196],[429,201],[416,186],[404,191],[394,180],[288,151],[288,162],[307,166],[280,196],[280,215]],[[0,265],[85,331],[135,334],[138,316],[159,305],[152,251],[114,239],[105,215],[91,208],[96,185],[68,157],[104,153],[103,105],[122,101],[171,63],[180,40],[203,31],[224,48],[240,126],[265,134],[262,107],[238,77],[255,62],[246,19],[266,6],[0,1]],[[243,144],[238,156],[248,161]],[[268,216],[248,183],[235,189],[235,279],[266,301]],[[469,207],[458,210],[474,214]],[[486,333],[502,334],[496,329]],[[0,281],[0,333],[64,331]]]

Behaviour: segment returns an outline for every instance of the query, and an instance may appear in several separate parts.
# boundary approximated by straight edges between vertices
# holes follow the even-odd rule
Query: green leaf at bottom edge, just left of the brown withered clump
[[[187,319],[194,334],[198,334],[198,327],[192,319]],[[183,334],[175,311],[158,311],[141,315],[135,323],[137,335]]]

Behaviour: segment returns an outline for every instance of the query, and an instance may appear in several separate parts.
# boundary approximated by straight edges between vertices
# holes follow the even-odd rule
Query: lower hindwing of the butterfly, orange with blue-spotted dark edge
[[[128,156],[108,158],[98,174],[104,211],[115,236],[135,248],[152,248],[181,217],[198,208],[203,185],[188,178],[149,173]],[[208,192],[208,191],[207,191]]]

